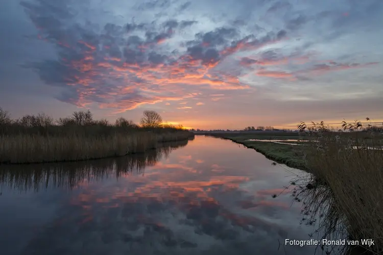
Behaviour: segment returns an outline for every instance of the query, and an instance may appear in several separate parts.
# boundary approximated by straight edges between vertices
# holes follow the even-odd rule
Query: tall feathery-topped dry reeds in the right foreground
[[[318,142],[301,146],[310,175],[293,194],[304,201],[306,214],[324,216],[323,238],[347,233],[360,245],[361,239],[373,239],[375,245],[363,248],[377,254],[383,251],[383,126],[355,121],[342,127],[310,126]]]

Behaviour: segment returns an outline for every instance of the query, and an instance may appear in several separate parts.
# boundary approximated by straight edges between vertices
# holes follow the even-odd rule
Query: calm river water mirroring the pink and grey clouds
[[[0,170],[0,254],[313,254],[292,174],[197,136],[137,157]],[[175,148],[177,147],[178,148]],[[173,147],[173,148],[172,148]],[[293,172],[300,171],[293,169]]]

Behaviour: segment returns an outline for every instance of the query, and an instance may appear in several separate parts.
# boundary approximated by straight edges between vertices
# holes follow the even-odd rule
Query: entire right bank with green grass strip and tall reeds
[[[367,121],[369,119],[367,118]],[[356,245],[346,245],[347,254],[383,252],[383,125],[343,122],[342,130],[333,130],[323,122],[298,125],[299,134],[260,134],[216,137],[230,139],[255,148],[278,163],[306,170],[305,176],[292,181],[292,195],[303,202],[302,220],[314,224],[319,239],[336,240],[345,235]],[[280,139],[285,143],[248,141]],[[298,141],[288,141],[297,139]],[[290,143],[290,144],[288,144]],[[288,187],[290,189],[290,187]],[[274,196],[277,196],[275,194]],[[305,218],[310,215],[309,218]],[[372,239],[374,245],[362,243]],[[321,247],[326,254],[339,246]]]

